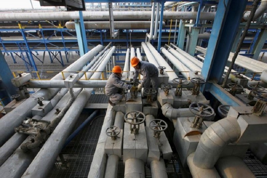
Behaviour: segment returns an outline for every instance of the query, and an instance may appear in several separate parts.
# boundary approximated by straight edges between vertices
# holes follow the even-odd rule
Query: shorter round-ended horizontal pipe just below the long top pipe
[[[65,26],[68,29],[75,29],[74,22],[66,22]],[[85,26],[85,29],[110,29],[109,21],[84,22],[84,26]],[[165,27],[165,22],[163,22],[163,27]],[[150,21],[115,21],[114,28],[115,29],[149,29]]]

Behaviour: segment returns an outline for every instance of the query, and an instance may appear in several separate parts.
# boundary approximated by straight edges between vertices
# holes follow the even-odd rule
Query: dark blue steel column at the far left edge
[[[0,50],[0,99],[1,103],[7,105],[11,98],[10,96],[17,94],[16,87],[12,85],[11,79],[14,78],[7,62]]]

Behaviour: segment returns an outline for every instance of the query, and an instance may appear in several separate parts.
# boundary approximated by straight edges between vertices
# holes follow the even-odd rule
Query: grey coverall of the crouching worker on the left
[[[116,104],[120,102],[123,98],[123,95],[120,93],[122,93],[125,89],[130,90],[131,87],[131,85],[122,82],[119,76],[112,73],[109,76],[109,79],[107,80],[107,84],[105,86],[105,93],[107,96],[109,96],[109,100],[112,103]]]

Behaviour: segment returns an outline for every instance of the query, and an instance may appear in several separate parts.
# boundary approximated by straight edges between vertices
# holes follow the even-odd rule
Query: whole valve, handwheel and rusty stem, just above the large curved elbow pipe
[[[189,106],[189,110],[195,114],[195,118],[191,123],[191,127],[200,128],[205,117],[211,117],[214,115],[214,110],[207,104],[192,103]]]

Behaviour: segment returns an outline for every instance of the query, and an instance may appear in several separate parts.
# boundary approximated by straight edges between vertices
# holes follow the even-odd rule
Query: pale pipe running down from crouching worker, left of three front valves
[[[103,122],[101,133],[99,135],[98,143],[96,146],[96,151],[91,163],[90,171],[88,178],[100,178],[104,177],[105,164],[107,159],[107,154],[105,153],[105,144],[106,144],[106,130],[113,123],[115,112],[112,106],[109,104],[106,112],[106,116]]]

